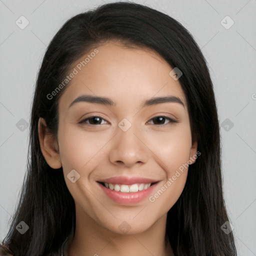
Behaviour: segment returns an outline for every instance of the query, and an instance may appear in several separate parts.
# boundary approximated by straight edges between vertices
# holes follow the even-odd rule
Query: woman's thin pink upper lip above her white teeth
[[[115,176],[115,177],[98,180],[98,182],[112,183],[112,184],[126,184],[126,185],[131,185],[135,183],[154,183],[157,181],[158,180],[155,180],[152,178],[129,177],[129,176]]]

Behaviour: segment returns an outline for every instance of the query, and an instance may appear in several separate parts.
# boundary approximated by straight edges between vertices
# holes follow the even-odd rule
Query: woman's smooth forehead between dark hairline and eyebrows
[[[172,67],[148,48],[110,41],[91,48],[74,62],[68,73],[74,69],[76,74],[60,97],[60,105],[81,94],[107,96],[126,104],[140,103],[153,96],[174,95],[185,103],[178,80],[169,75]]]

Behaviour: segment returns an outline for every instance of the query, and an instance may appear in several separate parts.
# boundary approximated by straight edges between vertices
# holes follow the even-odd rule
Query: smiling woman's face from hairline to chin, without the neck
[[[117,42],[96,49],[74,63],[77,73],[59,99],[59,160],[76,214],[116,233],[122,225],[142,232],[176,202],[186,163],[194,162],[185,96],[172,67],[152,50]]]

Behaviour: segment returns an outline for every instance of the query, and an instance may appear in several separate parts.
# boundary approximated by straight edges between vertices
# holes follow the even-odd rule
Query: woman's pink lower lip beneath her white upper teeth
[[[145,197],[149,196],[149,194],[152,192],[152,190],[155,188],[156,183],[153,185],[149,186],[148,188],[137,191],[137,192],[120,192],[120,191],[115,191],[112,189],[109,189],[105,187],[104,185],[100,184],[97,182],[99,186],[102,188],[102,190],[105,192],[107,196],[109,196],[112,200],[114,200],[117,203],[123,203],[123,204],[133,204],[133,203],[138,203],[142,201]]]

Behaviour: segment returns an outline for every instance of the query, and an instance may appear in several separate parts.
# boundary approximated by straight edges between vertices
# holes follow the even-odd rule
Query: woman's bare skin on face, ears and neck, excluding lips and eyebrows
[[[59,99],[57,138],[47,134],[44,120],[39,120],[44,158],[52,168],[62,166],[75,201],[75,236],[68,255],[173,255],[165,237],[166,217],[184,188],[187,168],[154,202],[146,197],[136,204],[117,203],[96,180],[116,175],[156,179],[153,195],[182,164],[189,159],[193,163],[197,142],[191,141],[184,93],[169,75],[172,67],[151,49],[113,41],[97,49]],[[115,105],[77,102],[68,107],[82,94],[109,97]],[[185,106],[176,102],[140,106],[143,100],[167,95],[179,97]],[[77,123],[92,115],[103,119],[99,124]],[[178,122],[152,120],[162,115]],[[123,118],[131,123],[127,131],[118,126]],[[67,178],[72,169],[80,174],[74,183]],[[123,221],[130,227],[126,233],[118,228]]]

